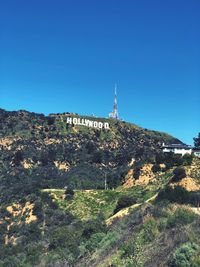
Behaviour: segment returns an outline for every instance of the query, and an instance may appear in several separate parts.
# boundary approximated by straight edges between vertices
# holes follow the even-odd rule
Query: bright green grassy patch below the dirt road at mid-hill
[[[45,189],[63,210],[70,211],[80,220],[92,220],[102,215],[108,219],[113,215],[117,201],[121,196],[133,197],[137,203],[143,203],[155,195],[171,177],[171,171],[159,176],[154,184],[138,185],[129,189],[119,187],[115,190],[75,190],[72,200],[65,200],[65,190]]]

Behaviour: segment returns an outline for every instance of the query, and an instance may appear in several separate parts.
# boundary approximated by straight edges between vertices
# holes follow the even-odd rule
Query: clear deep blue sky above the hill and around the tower
[[[200,131],[199,0],[0,3],[0,107],[119,113],[192,144]]]

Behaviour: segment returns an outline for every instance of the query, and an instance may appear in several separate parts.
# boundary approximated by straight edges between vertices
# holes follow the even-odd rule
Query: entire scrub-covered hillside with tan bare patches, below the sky
[[[0,266],[199,266],[200,159],[163,142],[181,143],[0,110]]]

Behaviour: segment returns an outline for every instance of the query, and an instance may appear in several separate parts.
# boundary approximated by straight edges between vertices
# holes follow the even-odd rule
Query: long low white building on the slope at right
[[[184,156],[185,154],[192,154],[192,147],[184,144],[171,144],[162,146],[164,153],[173,152],[174,154],[179,154]]]

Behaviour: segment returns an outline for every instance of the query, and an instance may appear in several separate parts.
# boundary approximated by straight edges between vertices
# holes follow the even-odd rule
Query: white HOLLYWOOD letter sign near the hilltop
[[[98,129],[110,129],[108,122],[101,122],[101,121],[92,121],[88,119],[83,118],[72,118],[67,117],[67,123],[68,124],[74,124],[74,125],[81,125],[81,126],[87,126],[92,128],[98,128]]]

